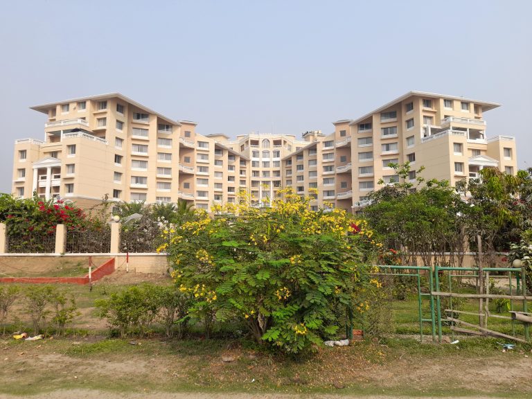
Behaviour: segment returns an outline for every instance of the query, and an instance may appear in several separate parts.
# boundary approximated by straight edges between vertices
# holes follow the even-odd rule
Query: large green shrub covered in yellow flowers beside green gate
[[[344,210],[311,211],[311,197],[281,194],[265,209],[244,195],[216,206],[218,217],[202,213],[164,231],[159,251],[207,327],[213,317],[241,319],[256,342],[301,353],[336,336],[353,296],[370,284],[361,244],[372,233],[354,228]]]

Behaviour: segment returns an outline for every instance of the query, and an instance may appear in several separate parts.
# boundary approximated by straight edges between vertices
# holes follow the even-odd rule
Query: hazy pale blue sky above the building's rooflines
[[[197,132],[332,132],[407,91],[502,103],[532,166],[532,1],[2,0],[0,191],[31,105],[120,91]]]

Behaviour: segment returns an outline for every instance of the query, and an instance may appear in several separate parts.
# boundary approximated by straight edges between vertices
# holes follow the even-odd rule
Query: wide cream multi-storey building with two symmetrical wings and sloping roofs
[[[46,114],[44,141],[15,143],[13,193],[72,199],[81,206],[116,201],[176,202],[196,207],[235,202],[244,189],[267,204],[292,186],[312,206],[351,209],[378,181],[397,181],[389,163],[425,166],[427,178],[476,177],[484,167],[514,173],[515,139],[486,137],[484,112],[495,103],[411,91],[335,131],[203,136],[121,94],[32,107]],[[410,179],[415,179],[412,170]]]

